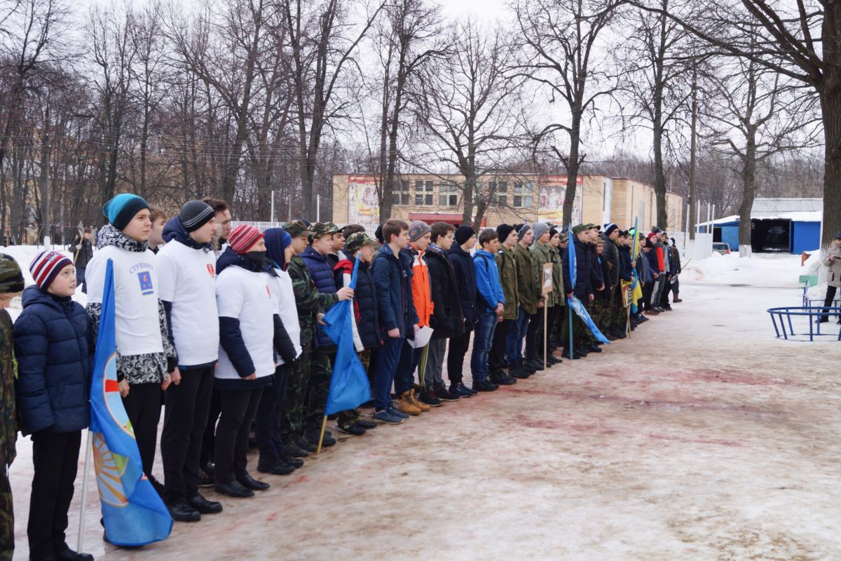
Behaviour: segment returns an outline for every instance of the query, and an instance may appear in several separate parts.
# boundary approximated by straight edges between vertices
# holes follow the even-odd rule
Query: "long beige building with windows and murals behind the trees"
[[[463,176],[459,174],[405,174],[397,179],[392,193],[392,217],[402,220],[461,224]],[[473,216],[485,208],[482,225],[553,222],[563,220],[566,176],[495,173],[479,178],[473,198]],[[654,225],[654,189],[627,177],[579,176],[573,204],[573,225],[616,222],[621,227],[639,219],[641,229]],[[681,230],[684,200],[666,193],[666,230]],[[377,225],[379,219],[378,177],[336,174],[333,176],[333,221],[336,224]]]

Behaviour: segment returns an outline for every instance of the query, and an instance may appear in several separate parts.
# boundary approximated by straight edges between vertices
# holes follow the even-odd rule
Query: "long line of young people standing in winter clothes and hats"
[[[66,545],[66,512],[89,421],[108,260],[114,263],[119,392],[145,476],[177,521],[223,511],[202,487],[236,498],[269,488],[248,469],[252,430],[262,474],[291,474],[315,452],[336,355],[322,318],[336,302],[353,300],[354,345],[373,392],[366,404],[372,415],[361,409],[336,415],[337,430],[351,435],[515,384],[544,369],[544,352],[545,368],[561,357],[601,352],[579,316],[564,313],[573,295],[610,339],[647,320],[643,310],[670,310],[670,292],[680,302],[679,255],[656,228],[644,237],[616,225],[601,233],[595,225],[575,226],[573,284],[570,241],[543,223],[477,233],[467,225],[393,219],[373,239],[362,225],[306,220],[264,232],[231,228],[227,204],[214,198],[189,201],[167,219],[143,198],[123,193],[103,212],[108,225],[99,231],[93,257],[86,255],[83,273],[87,309],[71,299],[78,271],[63,254],[40,253],[29,267],[35,284],[25,290],[17,263],[0,256],[0,306],[24,293],[14,325],[7,312],[0,314],[0,453],[8,466],[15,433],[32,435],[32,559],[92,558]],[[634,236],[642,248],[636,257]],[[357,262],[357,284],[350,288]],[[548,269],[551,290],[542,280]],[[623,283],[632,283],[633,271],[643,284],[643,304],[629,317]],[[433,330],[426,350],[412,345],[424,327]],[[561,357],[554,354],[558,347]],[[162,483],[152,473],[161,405]],[[336,444],[331,431],[322,443]],[[8,523],[0,538],[10,556],[8,478],[2,483]]]

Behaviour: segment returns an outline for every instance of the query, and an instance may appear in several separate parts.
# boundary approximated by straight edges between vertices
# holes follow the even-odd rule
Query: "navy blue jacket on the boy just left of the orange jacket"
[[[383,339],[395,327],[400,336],[414,337],[412,325],[418,322],[412,301],[412,259],[400,251],[399,259],[388,245],[380,248],[373,260],[373,283],[377,288],[379,328]]]

